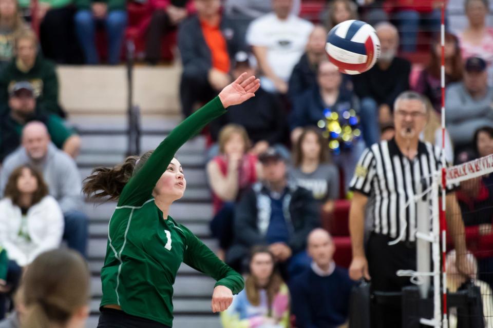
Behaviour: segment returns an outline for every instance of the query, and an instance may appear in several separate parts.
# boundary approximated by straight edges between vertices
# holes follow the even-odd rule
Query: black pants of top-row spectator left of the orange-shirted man
[[[145,40],[145,60],[150,64],[157,64],[161,59],[161,39],[169,32],[176,30],[163,9],[154,11],[147,29]]]

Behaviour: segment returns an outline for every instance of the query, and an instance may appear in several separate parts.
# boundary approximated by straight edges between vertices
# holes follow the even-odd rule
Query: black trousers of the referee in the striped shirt
[[[412,285],[409,277],[397,277],[397,270],[416,270],[416,247],[414,243],[399,242],[388,245],[392,239],[371,234],[366,249],[371,290],[400,292],[404,286]],[[372,328],[396,328],[402,326],[401,302],[385,306],[372,303]]]

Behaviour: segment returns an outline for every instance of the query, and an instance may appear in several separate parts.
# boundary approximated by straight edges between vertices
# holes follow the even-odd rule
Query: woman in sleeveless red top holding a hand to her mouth
[[[219,133],[219,155],[207,163],[214,204],[211,232],[219,239],[221,259],[233,241],[235,202],[260,176],[260,163],[256,156],[247,153],[249,146],[245,129],[236,124],[226,125]]]

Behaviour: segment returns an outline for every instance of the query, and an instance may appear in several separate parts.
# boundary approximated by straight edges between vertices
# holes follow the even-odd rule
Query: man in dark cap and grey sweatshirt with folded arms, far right
[[[488,86],[486,62],[479,57],[466,60],[464,81],[451,84],[445,93],[447,130],[456,151],[472,148],[472,131],[493,127],[493,88]]]

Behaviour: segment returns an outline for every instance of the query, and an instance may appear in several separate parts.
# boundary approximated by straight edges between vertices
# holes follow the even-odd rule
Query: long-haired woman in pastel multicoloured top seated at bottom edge
[[[221,312],[224,328],[290,327],[288,286],[274,270],[274,264],[274,255],[267,247],[252,249],[245,289],[234,295],[230,307]]]

